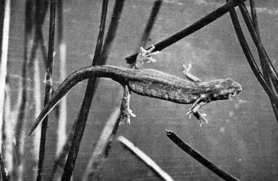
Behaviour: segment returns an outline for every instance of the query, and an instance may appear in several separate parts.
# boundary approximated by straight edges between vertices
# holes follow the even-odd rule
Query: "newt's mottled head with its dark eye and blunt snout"
[[[215,80],[215,87],[213,92],[211,92],[210,101],[233,98],[240,94],[242,90],[241,85],[230,78]]]

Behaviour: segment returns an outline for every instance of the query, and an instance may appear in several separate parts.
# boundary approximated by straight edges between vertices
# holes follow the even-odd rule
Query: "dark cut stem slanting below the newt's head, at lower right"
[[[210,160],[208,160],[206,157],[201,155],[197,150],[189,146],[185,141],[183,141],[178,135],[176,135],[171,130],[166,130],[167,137],[170,138],[174,144],[177,144],[179,148],[181,148],[183,151],[188,153],[191,157],[193,157],[195,160],[197,160],[199,163],[203,164],[208,168],[210,171],[213,171],[216,175],[220,176],[220,178],[223,178],[224,180],[231,180],[231,181],[239,181],[237,178],[235,178],[233,175],[230,175],[226,171],[223,171],[218,166],[213,164]]]

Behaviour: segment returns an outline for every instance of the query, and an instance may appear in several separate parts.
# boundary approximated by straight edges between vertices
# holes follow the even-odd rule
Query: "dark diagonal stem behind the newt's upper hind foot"
[[[196,21],[194,24],[191,24],[187,28],[184,28],[183,30],[181,30],[177,33],[174,33],[174,35],[167,37],[165,40],[154,44],[154,46],[156,46],[156,51],[161,51],[161,50],[165,49],[167,46],[170,46],[171,44],[178,42],[179,40],[194,33],[195,31],[198,31],[199,29],[204,28],[204,26],[210,24],[215,19],[218,19],[219,17],[222,17],[222,15],[229,12],[230,8],[236,7],[236,6],[238,6],[239,3],[244,2],[244,1],[246,1],[246,0],[231,0],[231,1],[227,2],[226,4],[224,4],[224,6],[221,6],[217,10],[214,10],[213,12],[209,13],[205,17]],[[147,49],[149,49],[149,48],[147,48]],[[137,55],[138,55],[138,53],[127,57],[126,62],[129,64],[133,64],[136,60]]]

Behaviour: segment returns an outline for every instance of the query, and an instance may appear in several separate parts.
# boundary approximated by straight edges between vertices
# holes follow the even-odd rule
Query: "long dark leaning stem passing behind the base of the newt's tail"
[[[108,7],[108,0],[104,0],[102,4],[102,10],[101,10],[101,24],[99,26],[99,35],[97,37],[97,46],[95,49],[95,55],[92,61],[92,66],[98,64],[100,60],[102,43],[104,39],[107,7]],[[74,137],[72,139],[70,153],[67,156],[67,161],[65,163],[65,169],[62,175],[62,180],[70,180],[70,178],[72,177],[72,171],[74,170],[74,164],[76,162],[76,157],[79,153],[79,146],[81,144],[81,139],[83,137],[83,132],[85,130],[86,121],[88,119],[90,105],[92,103],[92,96],[94,95],[95,92],[95,83],[96,83],[95,78],[90,78],[88,80],[87,88],[85,90],[85,96],[79,113],[79,118],[77,119],[77,124],[74,131]]]

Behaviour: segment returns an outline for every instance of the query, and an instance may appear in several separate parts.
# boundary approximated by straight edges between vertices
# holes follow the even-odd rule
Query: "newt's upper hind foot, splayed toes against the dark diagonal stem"
[[[145,50],[141,46],[140,53],[137,55],[136,62],[135,62],[133,69],[140,69],[142,67],[142,65],[144,64],[144,62],[148,62],[148,63],[156,62],[156,60],[154,58],[152,58],[152,55],[158,54],[159,51],[155,51],[152,53],[154,48],[155,48],[155,46],[152,45],[152,47],[149,50]]]

